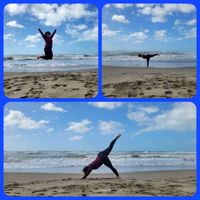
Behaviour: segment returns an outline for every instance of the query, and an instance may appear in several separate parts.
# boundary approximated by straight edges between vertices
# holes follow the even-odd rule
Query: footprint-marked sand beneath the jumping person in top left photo
[[[97,70],[4,73],[4,93],[10,98],[91,98],[97,87]]]

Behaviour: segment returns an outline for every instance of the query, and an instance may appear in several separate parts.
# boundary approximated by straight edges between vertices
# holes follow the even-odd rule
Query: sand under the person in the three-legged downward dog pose
[[[194,170],[91,174],[5,173],[9,196],[192,196],[196,192]]]

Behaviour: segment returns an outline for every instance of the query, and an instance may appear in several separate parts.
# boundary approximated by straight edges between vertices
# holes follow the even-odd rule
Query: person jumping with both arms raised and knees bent
[[[49,31],[45,32],[45,34],[38,29],[38,31],[41,33],[44,41],[45,41],[45,47],[44,47],[44,54],[43,56],[38,56],[37,59],[42,58],[45,60],[52,60],[53,58],[53,52],[52,52],[52,47],[53,47],[53,36],[56,33],[55,31],[51,34]]]

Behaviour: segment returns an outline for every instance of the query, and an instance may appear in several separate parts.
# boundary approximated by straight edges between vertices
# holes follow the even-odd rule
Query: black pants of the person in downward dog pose
[[[116,140],[117,140],[117,138],[115,138],[115,139],[110,143],[110,145],[109,145],[108,148],[106,148],[105,150],[99,152],[99,153],[98,153],[98,156],[99,156],[99,158],[101,159],[101,161],[103,162],[103,164],[104,164],[105,166],[109,167],[109,168],[114,172],[114,174],[115,174],[116,176],[119,176],[117,170],[113,167],[113,165],[112,165],[110,159],[108,158],[108,155],[109,155],[110,152],[112,151],[113,146],[114,146]]]

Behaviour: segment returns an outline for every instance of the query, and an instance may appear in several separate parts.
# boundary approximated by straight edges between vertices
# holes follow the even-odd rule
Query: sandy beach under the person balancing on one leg
[[[103,67],[105,97],[187,98],[196,94],[196,69]]]

